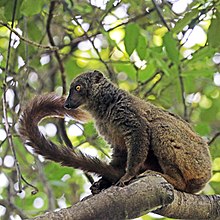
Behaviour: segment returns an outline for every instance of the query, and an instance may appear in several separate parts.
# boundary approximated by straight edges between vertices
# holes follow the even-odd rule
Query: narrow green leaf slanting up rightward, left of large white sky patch
[[[192,11],[188,12],[185,14],[184,18],[183,19],[179,19],[177,22],[176,22],[176,25],[175,27],[172,29],[172,31],[174,33],[179,33],[180,31],[183,30],[183,28],[188,25],[193,18],[195,18],[199,13],[199,10],[198,8],[195,8],[193,9]]]

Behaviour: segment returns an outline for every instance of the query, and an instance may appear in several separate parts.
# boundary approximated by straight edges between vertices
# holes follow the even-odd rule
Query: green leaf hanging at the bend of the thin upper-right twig
[[[179,63],[178,42],[172,36],[172,32],[167,32],[163,37],[163,43],[168,57],[176,64]]]

